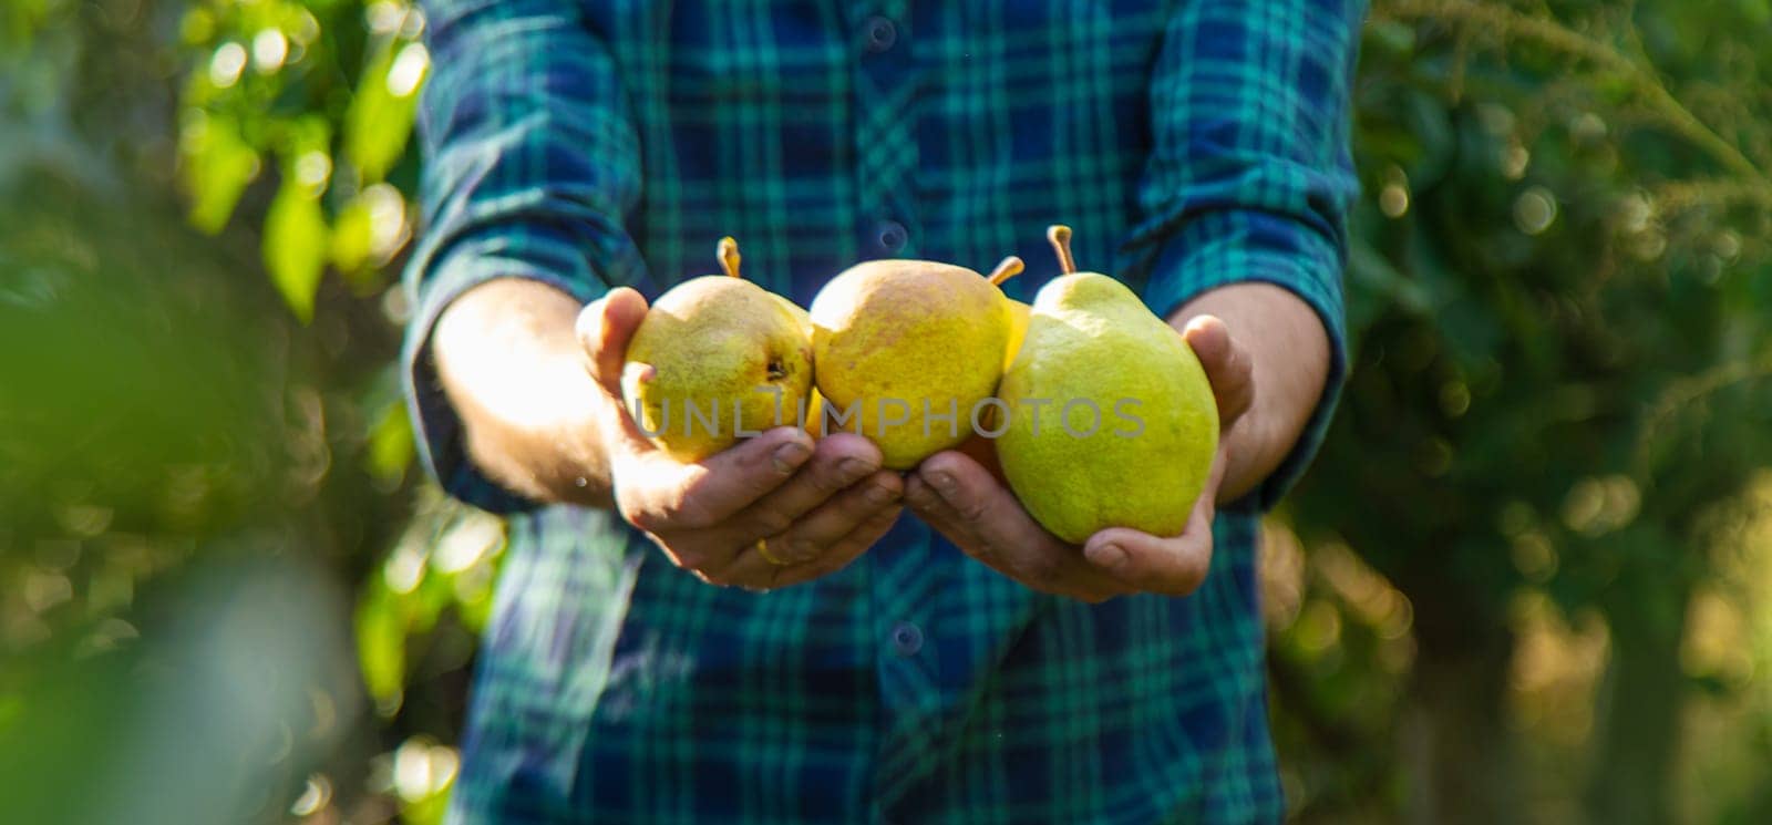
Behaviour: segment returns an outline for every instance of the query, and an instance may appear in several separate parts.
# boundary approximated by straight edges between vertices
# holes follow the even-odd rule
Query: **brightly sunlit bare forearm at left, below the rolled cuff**
[[[610,506],[601,434],[615,405],[585,368],[579,310],[546,283],[489,281],[450,303],[431,349],[487,478],[537,501]]]

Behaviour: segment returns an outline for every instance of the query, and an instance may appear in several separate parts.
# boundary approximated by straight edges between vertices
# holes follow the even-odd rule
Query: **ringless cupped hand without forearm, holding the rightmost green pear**
[[[925,459],[905,482],[905,503],[968,556],[1042,593],[1092,604],[1127,593],[1193,593],[1212,563],[1212,515],[1232,459],[1228,434],[1255,402],[1255,379],[1247,352],[1219,319],[1196,317],[1182,335],[1205,366],[1221,428],[1212,473],[1182,535],[1109,528],[1083,547],[1067,544],[1021,506],[998,474],[976,460],[976,450]]]

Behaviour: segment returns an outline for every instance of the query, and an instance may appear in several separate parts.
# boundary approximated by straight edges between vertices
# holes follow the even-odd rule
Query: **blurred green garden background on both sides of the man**
[[[1772,821],[1772,4],[1373,5],[1294,818]],[[0,821],[439,820],[503,535],[393,368],[422,32],[0,5]]]

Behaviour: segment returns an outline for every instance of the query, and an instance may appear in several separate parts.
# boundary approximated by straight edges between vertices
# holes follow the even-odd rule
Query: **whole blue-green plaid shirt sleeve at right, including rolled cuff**
[[[1145,303],[1170,317],[1214,287],[1292,290],[1329,333],[1329,381],[1299,443],[1255,490],[1271,508],[1310,464],[1347,375],[1341,269],[1359,191],[1348,85],[1364,0],[1193,0],[1168,21],[1150,80]]]

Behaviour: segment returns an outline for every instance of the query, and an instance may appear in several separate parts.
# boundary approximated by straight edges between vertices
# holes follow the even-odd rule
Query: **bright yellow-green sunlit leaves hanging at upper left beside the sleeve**
[[[218,0],[179,21],[193,58],[179,108],[191,223],[220,232],[260,170],[276,168],[264,269],[301,320],[328,264],[372,294],[409,235],[400,191],[431,66],[422,30],[416,9],[388,0]]]

